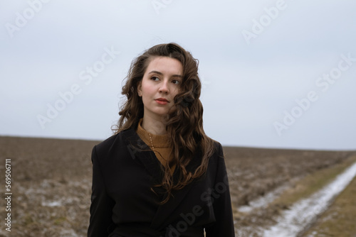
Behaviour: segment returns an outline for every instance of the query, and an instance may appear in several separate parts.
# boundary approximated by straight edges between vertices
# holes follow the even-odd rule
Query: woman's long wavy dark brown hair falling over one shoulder
[[[162,202],[165,203],[172,196],[172,190],[182,189],[205,174],[209,157],[214,152],[214,141],[206,136],[203,129],[203,106],[199,99],[201,91],[198,75],[199,61],[176,43],[155,45],[132,61],[127,81],[122,87],[122,94],[125,94],[127,101],[122,105],[119,113],[118,128],[113,129],[115,134],[137,128],[140,118],[143,117],[142,97],[138,96],[137,85],[155,57],[172,57],[183,65],[179,94],[174,97],[175,109],[164,118],[173,157],[169,164],[164,165],[162,183],[157,184],[167,191],[167,198]],[[200,157],[197,157],[197,154],[200,154]],[[192,159],[199,159],[200,165],[195,171],[189,172],[187,165]],[[177,165],[176,168],[180,171],[179,179],[175,182],[170,172],[172,165]]]

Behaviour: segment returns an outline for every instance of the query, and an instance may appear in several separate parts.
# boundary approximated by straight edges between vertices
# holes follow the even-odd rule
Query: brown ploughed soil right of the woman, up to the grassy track
[[[344,162],[355,151],[278,150],[225,147],[232,204],[248,205],[273,189],[293,187],[300,178]],[[288,206],[271,204],[249,213],[234,212],[240,237],[259,236],[258,229],[276,224],[274,216]]]

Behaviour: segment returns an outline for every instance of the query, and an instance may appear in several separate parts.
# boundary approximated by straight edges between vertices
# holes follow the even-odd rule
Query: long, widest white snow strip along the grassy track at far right
[[[345,172],[338,175],[333,182],[308,199],[293,204],[289,210],[278,217],[278,224],[264,231],[264,237],[298,236],[313,223],[317,216],[325,211],[333,199],[342,192],[356,176],[356,162]]]

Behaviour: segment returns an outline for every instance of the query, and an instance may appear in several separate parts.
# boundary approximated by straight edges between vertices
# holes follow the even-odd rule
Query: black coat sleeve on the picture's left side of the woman
[[[91,160],[93,162],[93,184],[90,205],[90,223],[88,237],[108,236],[108,229],[112,226],[113,201],[108,196],[103,179],[103,170],[93,148]]]

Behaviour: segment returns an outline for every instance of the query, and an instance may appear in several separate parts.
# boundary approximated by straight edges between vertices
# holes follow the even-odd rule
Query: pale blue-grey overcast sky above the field
[[[356,1],[0,2],[0,136],[104,140],[134,57],[199,60],[222,145],[356,149]]]

